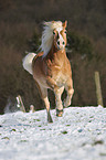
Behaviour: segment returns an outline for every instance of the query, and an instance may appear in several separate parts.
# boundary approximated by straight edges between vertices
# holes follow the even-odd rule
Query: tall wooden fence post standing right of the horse
[[[99,73],[98,72],[95,72],[95,84],[96,84],[97,105],[103,106],[100,79],[99,79]]]

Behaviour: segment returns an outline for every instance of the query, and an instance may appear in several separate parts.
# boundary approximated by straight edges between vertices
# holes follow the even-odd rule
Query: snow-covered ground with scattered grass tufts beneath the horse
[[[0,160],[106,160],[106,108],[70,107],[0,116]]]

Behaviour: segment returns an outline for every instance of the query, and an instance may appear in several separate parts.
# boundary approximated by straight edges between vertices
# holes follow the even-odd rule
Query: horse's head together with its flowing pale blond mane
[[[67,21],[44,22],[42,33],[42,43],[40,49],[44,52],[43,57],[47,55],[51,47],[54,45],[56,50],[63,50],[66,45],[66,24]]]

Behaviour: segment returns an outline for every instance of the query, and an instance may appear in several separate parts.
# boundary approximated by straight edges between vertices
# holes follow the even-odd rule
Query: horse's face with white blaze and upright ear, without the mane
[[[62,23],[62,28],[56,28],[53,30],[54,46],[57,50],[63,50],[66,45],[66,24],[67,21]]]

